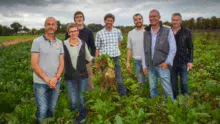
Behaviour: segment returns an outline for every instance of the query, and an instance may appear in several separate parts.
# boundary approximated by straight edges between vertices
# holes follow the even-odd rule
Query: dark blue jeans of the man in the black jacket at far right
[[[171,84],[172,84],[173,95],[174,95],[175,99],[179,95],[178,76],[180,76],[181,94],[188,94],[187,64],[172,67],[172,71],[171,71]]]

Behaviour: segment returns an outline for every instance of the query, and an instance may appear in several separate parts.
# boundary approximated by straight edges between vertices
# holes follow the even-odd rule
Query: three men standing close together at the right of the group
[[[135,29],[128,33],[127,64],[131,70],[131,55],[139,83],[144,84],[148,75],[150,97],[158,96],[160,79],[166,96],[172,100],[179,95],[178,76],[181,94],[188,94],[188,71],[193,67],[193,42],[191,32],[182,27],[182,16],[174,13],[172,27],[162,24],[158,10],[149,13],[150,25],[144,27],[141,14],[133,16]]]

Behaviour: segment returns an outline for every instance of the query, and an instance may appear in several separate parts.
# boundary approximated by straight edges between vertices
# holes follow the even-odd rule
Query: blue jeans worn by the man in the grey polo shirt
[[[56,89],[51,89],[47,84],[34,83],[34,93],[37,103],[36,117],[38,122],[53,117],[54,109],[60,93],[60,82],[56,84]]]

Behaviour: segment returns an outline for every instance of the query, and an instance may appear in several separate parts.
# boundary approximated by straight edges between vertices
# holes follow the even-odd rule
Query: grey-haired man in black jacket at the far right
[[[193,67],[193,42],[191,32],[181,27],[182,16],[180,13],[172,15],[172,30],[175,36],[177,52],[171,71],[171,83],[174,98],[179,95],[178,76],[180,76],[181,94],[188,94],[188,71]]]

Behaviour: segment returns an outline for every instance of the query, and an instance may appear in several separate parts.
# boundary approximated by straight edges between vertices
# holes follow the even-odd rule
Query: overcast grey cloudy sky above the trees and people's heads
[[[48,16],[61,23],[73,21],[74,12],[85,14],[85,23],[104,24],[103,17],[113,13],[115,25],[133,25],[132,16],[141,13],[148,24],[152,9],[161,13],[162,21],[170,21],[174,12],[183,19],[220,17],[220,0],[0,0],[0,24],[10,26],[17,21],[28,28],[42,28]]]

